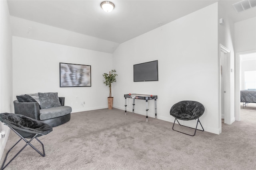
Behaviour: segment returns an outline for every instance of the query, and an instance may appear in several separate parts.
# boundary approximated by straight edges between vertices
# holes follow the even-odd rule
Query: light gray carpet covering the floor
[[[241,109],[241,119],[222,124],[220,135],[197,131],[190,137],[172,131],[170,122],[146,123],[145,116],[120,109],[72,113],[68,123],[39,137],[45,157],[28,146],[6,170],[255,170],[256,104]],[[11,132],[3,158],[18,139]]]

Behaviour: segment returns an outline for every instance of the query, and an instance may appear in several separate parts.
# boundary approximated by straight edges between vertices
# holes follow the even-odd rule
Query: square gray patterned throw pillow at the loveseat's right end
[[[38,93],[42,109],[61,106],[58,93]]]

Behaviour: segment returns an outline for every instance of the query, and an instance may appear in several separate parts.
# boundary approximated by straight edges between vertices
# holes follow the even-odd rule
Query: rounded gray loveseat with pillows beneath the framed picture
[[[31,117],[51,127],[70,120],[72,108],[64,106],[65,98],[58,97],[58,93],[35,93],[16,97],[18,100],[13,102],[15,114]]]

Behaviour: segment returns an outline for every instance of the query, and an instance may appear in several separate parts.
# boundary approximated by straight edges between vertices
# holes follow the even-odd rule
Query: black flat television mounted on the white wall
[[[158,60],[133,65],[133,81],[158,81]]]

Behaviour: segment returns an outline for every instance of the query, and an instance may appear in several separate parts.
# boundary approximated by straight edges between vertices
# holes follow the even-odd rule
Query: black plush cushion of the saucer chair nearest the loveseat
[[[1,113],[0,121],[15,129],[24,138],[32,138],[35,134],[40,137],[52,131],[52,127],[46,123],[14,113]]]

